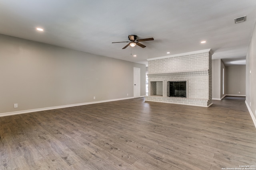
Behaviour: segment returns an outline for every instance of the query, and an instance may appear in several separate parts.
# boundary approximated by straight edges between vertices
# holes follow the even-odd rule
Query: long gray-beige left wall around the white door
[[[0,35],[0,113],[132,98],[134,67],[145,96],[144,64]]]

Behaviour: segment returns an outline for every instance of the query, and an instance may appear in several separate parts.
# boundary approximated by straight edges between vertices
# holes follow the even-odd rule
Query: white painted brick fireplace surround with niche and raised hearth
[[[212,50],[148,59],[146,101],[209,107],[212,105]],[[168,97],[168,81],[186,81],[186,98]]]

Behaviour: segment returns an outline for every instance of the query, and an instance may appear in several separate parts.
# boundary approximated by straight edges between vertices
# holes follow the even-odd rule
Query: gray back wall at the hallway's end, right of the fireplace
[[[226,67],[226,95],[245,96],[246,66]],[[239,93],[240,92],[240,93]]]

